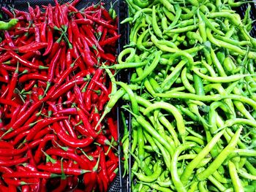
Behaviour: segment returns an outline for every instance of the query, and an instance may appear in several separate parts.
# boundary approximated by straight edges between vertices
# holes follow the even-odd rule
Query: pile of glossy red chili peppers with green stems
[[[115,109],[97,123],[118,18],[78,2],[1,8],[18,23],[0,31],[0,191],[107,191],[116,177]]]

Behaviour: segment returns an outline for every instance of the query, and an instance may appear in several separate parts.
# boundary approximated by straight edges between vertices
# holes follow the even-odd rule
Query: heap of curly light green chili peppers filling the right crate
[[[129,45],[111,68],[131,78],[111,78],[119,89],[109,104],[129,101],[132,129],[123,115],[121,142],[132,191],[255,191],[250,7],[241,19],[233,7],[245,1],[126,2]]]

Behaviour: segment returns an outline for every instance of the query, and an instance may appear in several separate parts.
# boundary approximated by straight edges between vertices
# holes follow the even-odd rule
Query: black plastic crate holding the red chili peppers
[[[58,0],[60,4],[64,4],[70,0]],[[118,18],[124,18],[126,17],[126,7],[124,5],[123,1],[119,0],[86,0],[83,1],[81,0],[75,7],[78,9],[83,9],[84,7],[89,7],[91,4],[98,4],[99,2],[104,2],[105,3],[105,8],[110,9],[111,4],[113,5],[113,9],[116,10],[116,15],[118,15]],[[42,5],[48,5],[52,4],[55,5],[53,0],[29,0],[29,1],[24,1],[24,0],[0,0],[0,8],[1,7],[6,7],[7,9],[10,8],[15,8],[19,9],[21,11],[28,11],[28,4],[31,7],[35,7],[38,5],[39,7],[42,7]],[[1,10],[0,10],[1,12]],[[2,12],[1,12],[2,13]],[[8,19],[7,15],[3,15],[4,19]],[[124,34],[127,33],[127,30],[125,28],[120,28],[119,23],[118,23],[118,34]],[[121,47],[124,45],[124,35],[121,39],[118,39],[118,47],[117,47],[117,53],[121,52]],[[118,79],[120,80],[127,79],[126,77],[124,78],[122,75],[118,75]],[[117,120],[119,122],[119,110],[117,110]],[[121,134],[122,128],[121,124],[118,123],[118,134]],[[121,137],[120,137],[121,138]],[[121,146],[118,146],[118,154],[119,155],[119,162],[121,162]],[[118,191],[127,191],[127,178],[120,177],[122,175],[122,165],[119,164],[119,172],[116,175],[116,178],[113,180],[113,183],[110,184],[108,188],[108,192],[118,192]]]

